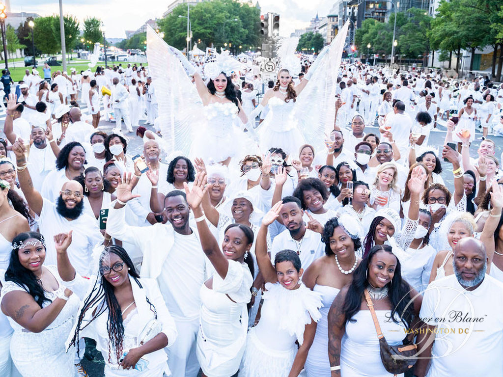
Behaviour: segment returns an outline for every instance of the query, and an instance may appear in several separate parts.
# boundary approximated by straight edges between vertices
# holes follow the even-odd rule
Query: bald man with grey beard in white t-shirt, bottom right
[[[501,376],[503,284],[486,274],[484,244],[471,237],[461,239],[454,249],[453,268],[454,274],[433,281],[425,291],[420,318],[428,326],[422,329],[426,334],[420,333],[422,358],[414,373]]]

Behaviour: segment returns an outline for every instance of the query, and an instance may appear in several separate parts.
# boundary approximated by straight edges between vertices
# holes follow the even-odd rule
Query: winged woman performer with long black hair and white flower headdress
[[[158,92],[164,93],[157,96],[158,124],[170,147],[167,153],[220,162],[238,156],[245,145],[254,144],[243,133],[247,123],[244,111],[227,96],[221,97],[219,92],[212,95],[196,67],[151,28],[147,28],[147,56],[152,79]],[[221,73],[228,78],[240,65],[222,53],[216,54],[215,62],[206,63],[204,71],[210,80]],[[196,85],[187,74],[194,76]]]

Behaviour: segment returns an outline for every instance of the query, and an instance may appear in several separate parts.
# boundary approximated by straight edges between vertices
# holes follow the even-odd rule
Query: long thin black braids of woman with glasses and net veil
[[[107,246],[104,250],[105,252],[116,254],[121,258],[128,268],[128,274],[133,280],[138,284],[138,287],[143,288],[139,279],[138,272],[134,268],[133,262],[129,257],[126,250],[117,245]],[[102,269],[103,261],[100,260],[100,270]],[[150,305],[150,310],[154,313],[154,318],[157,319],[157,312],[153,304],[146,298],[147,303]],[[82,325],[82,321],[88,310],[93,310],[91,320],[86,324]],[[111,362],[111,352],[112,348],[115,349],[115,355],[117,360],[119,360],[123,354],[123,339],[124,339],[124,325],[122,321],[122,311],[121,307],[115,297],[113,286],[105,279],[103,275],[97,276],[93,289],[89,296],[84,300],[84,305],[80,311],[77,319],[77,326],[75,328],[75,333],[71,339],[70,346],[77,345],[77,353],[79,351],[78,339],[80,338],[79,333],[81,330],[85,329],[91,324],[95,319],[101,316],[108,310],[107,319],[107,332],[109,337],[108,342],[108,361]]]

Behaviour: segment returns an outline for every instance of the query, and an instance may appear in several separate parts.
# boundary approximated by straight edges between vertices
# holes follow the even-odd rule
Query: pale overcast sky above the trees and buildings
[[[173,0],[63,0],[63,13],[101,19],[107,28],[107,37],[125,38],[125,30],[136,30],[150,18],[161,17]],[[254,0],[255,4],[256,0]],[[309,20],[319,13],[326,16],[335,0],[260,0],[262,14],[276,12],[281,15],[280,35],[290,36],[295,29],[308,26]],[[57,0],[11,0],[11,12],[38,13],[40,16],[59,14]]]

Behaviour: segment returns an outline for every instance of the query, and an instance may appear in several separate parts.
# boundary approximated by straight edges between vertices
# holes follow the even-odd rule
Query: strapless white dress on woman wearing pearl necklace
[[[314,292],[319,292],[321,295],[321,303],[323,307],[319,310],[321,318],[316,326],[316,335],[314,341],[309,348],[307,354],[305,369],[307,377],[330,377],[330,362],[328,361],[328,311],[333,300],[339,294],[339,289],[320,286],[316,284],[313,288]]]

